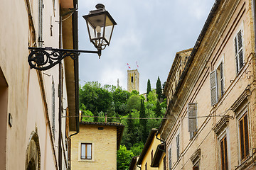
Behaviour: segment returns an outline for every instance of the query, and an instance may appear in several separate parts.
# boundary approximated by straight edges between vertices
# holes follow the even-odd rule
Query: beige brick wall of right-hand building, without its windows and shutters
[[[245,89],[250,89],[251,95],[248,97],[248,117],[250,128],[250,155],[252,148],[255,146],[255,85],[253,81],[254,66],[254,33],[252,31],[252,11],[250,1],[221,1],[220,6],[226,8],[225,12],[230,11],[230,15],[224,15],[224,11],[218,11],[213,18],[215,24],[211,24],[205,39],[201,42],[191,68],[188,70],[184,81],[191,82],[187,89],[187,96],[178,96],[179,105],[176,111],[177,119],[173,120],[173,126],[166,136],[166,149],[172,149],[172,167],[173,169],[192,169],[195,162],[191,161],[191,156],[197,149],[201,149],[199,167],[200,169],[220,169],[220,147],[218,135],[215,134],[213,128],[220,121],[221,116],[230,115],[225,132],[228,136],[228,166],[234,169],[235,166],[241,164],[239,151],[239,132],[237,113],[231,110],[231,106],[235,103]],[[224,7],[223,7],[224,6]],[[231,10],[231,7],[233,9]],[[220,17],[221,15],[221,17]],[[226,18],[225,18],[226,17]],[[224,19],[222,19],[224,18]],[[225,22],[224,22],[225,21]],[[235,47],[234,39],[238,30],[243,30],[243,43],[245,61],[239,74],[235,69]],[[218,38],[215,40],[211,37],[213,33],[218,32]],[[205,57],[205,58],[204,58]],[[203,66],[203,60],[207,61]],[[204,61],[204,62],[205,62]],[[220,62],[224,64],[225,94],[219,98],[218,103],[213,107],[210,106],[210,77],[209,74],[217,69]],[[196,67],[201,72],[196,71]],[[200,70],[198,69],[198,70]],[[190,75],[194,77],[189,80]],[[187,103],[197,103],[197,128],[196,135],[190,139],[188,132],[188,110]],[[213,115],[213,117],[207,117]],[[217,116],[216,116],[217,115]],[[170,122],[169,122],[170,123]],[[176,157],[176,134],[181,134],[181,157]],[[166,150],[166,153],[168,151]],[[166,161],[169,159],[166,155]],[[242,169],[241,167],[238,169]]]

